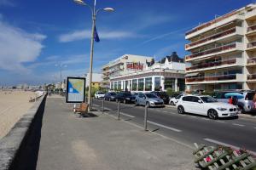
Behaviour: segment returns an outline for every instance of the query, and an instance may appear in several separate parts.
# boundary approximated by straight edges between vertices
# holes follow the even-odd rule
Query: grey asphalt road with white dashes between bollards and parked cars
[[[94,107],[102,108],[102,100],[94,99]],[[106,113],[117,116],[117,103],[104,102]],[[143,127],[144,107],[120,105],[120,116]],[[185,144],[224,144],[256,153],[256,119],[226,118],[210,120],[206,116],[179,115],[176,108],[148,108],[148,130]]]

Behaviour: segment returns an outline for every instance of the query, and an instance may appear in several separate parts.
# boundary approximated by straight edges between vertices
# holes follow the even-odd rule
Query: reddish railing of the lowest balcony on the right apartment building
[[[191,77],[186,78],[186,82],[210,82],[210,81],[223,81],[223,80],[235,80],[236,74],[234,75],[220,75],[212,77]]]

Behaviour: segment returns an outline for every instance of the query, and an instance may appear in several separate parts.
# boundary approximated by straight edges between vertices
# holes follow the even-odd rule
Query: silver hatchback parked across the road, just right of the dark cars
[[[135,105],[147,105],[148,107],[163,107],[164,100],[153,93],[140,93],[137,95]]]

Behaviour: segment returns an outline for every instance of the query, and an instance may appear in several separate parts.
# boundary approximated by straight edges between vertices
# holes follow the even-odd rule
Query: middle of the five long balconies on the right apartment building
[[[241,50],[241,51],[243,50],[243,46],[241,42],[234,42],[224,46],[219,46],[217,48],[207,49],[205,51],[198,52],[195,54],[189,54],[189,55],[186,55],[185,59],[186,61],[193,60],[193,59],[202,59],[202,58],[213,56],[213,55],[230,53],[236,50]]]

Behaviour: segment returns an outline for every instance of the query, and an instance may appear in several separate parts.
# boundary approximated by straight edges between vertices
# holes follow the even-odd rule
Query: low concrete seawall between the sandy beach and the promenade
[[[0,170],[36,169],[46,95],[0,139]]]

